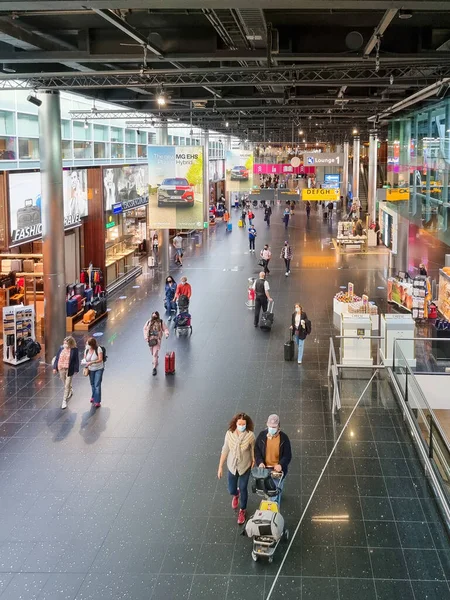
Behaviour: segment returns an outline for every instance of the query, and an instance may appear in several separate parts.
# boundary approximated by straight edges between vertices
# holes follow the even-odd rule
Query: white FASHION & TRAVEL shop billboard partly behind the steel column
[[[11,247],[42,237],[41,174],[9,173],[9,230]],[[63,171],[64,229],[81,225],[88,214],[87,170]]]

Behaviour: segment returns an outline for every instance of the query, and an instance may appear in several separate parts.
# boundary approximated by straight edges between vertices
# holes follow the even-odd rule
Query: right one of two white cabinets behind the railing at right
[[[400,348],[410,367],[416,366],[414,338],[416,325],[411,315],[381,315],[380,356],[385,365],[392,367],[394,341],[400,341]]]

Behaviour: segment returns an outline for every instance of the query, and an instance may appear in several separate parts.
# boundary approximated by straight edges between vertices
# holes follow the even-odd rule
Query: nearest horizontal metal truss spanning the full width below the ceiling
[[[450,76],[450,65],[436,65],[435,79]],[[183,69],[148,71],[97,71],[95,73],[21,73],[0,74],[0,89],[76,89],[147,87],[165,89],[171,87],[198,86],[337,86],[348,87],[422,87],[433,83],[430,67],[383,67],[379,71],[370,66],[357,68],[292,67]],[[435,80],[434,79],[434,80]]]

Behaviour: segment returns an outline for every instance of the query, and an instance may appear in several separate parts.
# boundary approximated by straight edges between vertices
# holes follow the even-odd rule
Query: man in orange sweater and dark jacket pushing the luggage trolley
[[[267,419],[267,428],[256,438],[255,460],[258,467],[273,469],[277,473],[284,474],[279,484],[279,494],[274,498],[275,502],[280,501],[291,459],[291,442],[280,429],[280,417],[275,414],[270,415]]]

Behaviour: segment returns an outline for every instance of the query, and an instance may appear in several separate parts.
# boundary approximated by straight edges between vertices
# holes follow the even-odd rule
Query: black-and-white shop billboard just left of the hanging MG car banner
[[[103,169],[105,210],[126,212],[148,204],[147,165],[106,167]],[[120,206],[120,210],[118,207]]]

